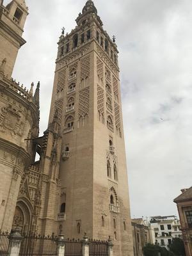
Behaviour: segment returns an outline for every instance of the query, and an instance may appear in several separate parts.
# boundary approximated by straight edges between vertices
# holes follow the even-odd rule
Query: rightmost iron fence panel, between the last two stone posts
[[[108,241],[90,240],[90,256],[108,256]]]

